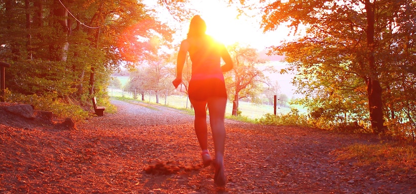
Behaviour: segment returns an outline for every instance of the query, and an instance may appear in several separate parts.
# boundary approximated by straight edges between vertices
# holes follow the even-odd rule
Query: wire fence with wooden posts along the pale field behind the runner
[[[108,94],[111,97],[124,97],[137,101],[144,101],[149,103],[159,103],[161,105],[167,105],[175,108],[191,108],[191,103],[185,93],[178,93],[175,95],[168,95],[167,92],[159,92],[158,97],[154,91],[146,91],[143,98],[142,94],[137,91],[126,91],[117,88],[108,88]],[[181,95],[182,94],[182,95]],[[226,115],[231,115],[232,102],[227,103],[225,110]],[[264,114],[273,114],[274,106],[269,104],[254,104],[251,102],[238,102],[238,110],[241,111],[241,116],[248,117],[250,119],[259,119]],[[276,112],[278,114],[286,114],[290,112],[291,108],[287,102],[280,101],[277,103]]]

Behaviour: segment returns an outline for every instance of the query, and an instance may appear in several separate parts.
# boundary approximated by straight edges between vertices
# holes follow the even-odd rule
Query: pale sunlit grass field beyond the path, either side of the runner
[[[123,93],[123,91],[119,89],[108,89],[108,93],[109,93],[109,96],[112,96],[112,97],[124,96],[125,98],[133,99],[132,94],[125,93],[125,92]],[[137,100],[141,100],[141,99],[142,97],[139,95]],[[145,95],[145,102],[156,103],[156,96],[155,95],[149,96],[149,94]],[[167,96],[166,99],[164,95],[160,95],[159,104],[167,105],[167,106],[171,106],[175,108],[190,108],[191,107],[191,103],[189,102],[186,96],[177,96],[177,95]],[[272,105],[257,105],[257,104],[252,104],[249,102],[239,102],[239,109],[241,111],[242,116],[248,117],[250,119],[259,119],[266,113],[270,113],[270,114],[274,113],[274,109]],[[285,114],[285,113],[288,113],[290,109],[278,108],[276,111],[278,113]],[[229,102],[227,103],[225,113],[226,115],[231,115],[231,112],[232,112],[232,103]]]

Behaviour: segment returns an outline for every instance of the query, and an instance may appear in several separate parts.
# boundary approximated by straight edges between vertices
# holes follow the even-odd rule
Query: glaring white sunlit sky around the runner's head
[[[152,1],[149,0],[149,2]],[[260,29],[261,15],[257,18],[242,16],[237,19],[237,10],[229,7],[224,0],[191,0],[189,10],[200,15],[205,20],[207,34],[214,36],[225,45],[239,42],[250,45],[260,51],[269,46],[279,45],[281,41],[289,38],[289,31],[286,27],[281,27],[274,32],[263,33],[262,29]],[[169,15],[165,17],[161,17],[161,19],[170,20],[168,18],[171,18]],[[190,19],[181,24],[180,29],[182,30],[177,34],[180,39],[186,38]]]

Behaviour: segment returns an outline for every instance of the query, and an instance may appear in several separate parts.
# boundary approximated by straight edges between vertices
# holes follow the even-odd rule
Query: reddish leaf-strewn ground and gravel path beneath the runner
[[[351,145],[379,144],[376,136],[232,120],[225,124],[228,183],[216,187],[214,168],[201,168],[193,115],[112,104],[117,113],[75,126],[0,108],[0,193],[416,193],[414,170],[338,158]]]

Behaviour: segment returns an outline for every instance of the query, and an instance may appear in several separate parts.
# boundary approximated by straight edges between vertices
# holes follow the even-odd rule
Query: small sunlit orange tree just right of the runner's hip
[[[250,98],[259,102],[259,93],[262,86],[268,83],[267,77],[256,65],[265,63],[259,58],[256,49],[234,44],[228,48],[234,61],[234,68],[225,76],[228,95],[233,99],[232,115],[238,115],[238,101],[241,98]],[[271,70],[271,67],[265,70]]]

